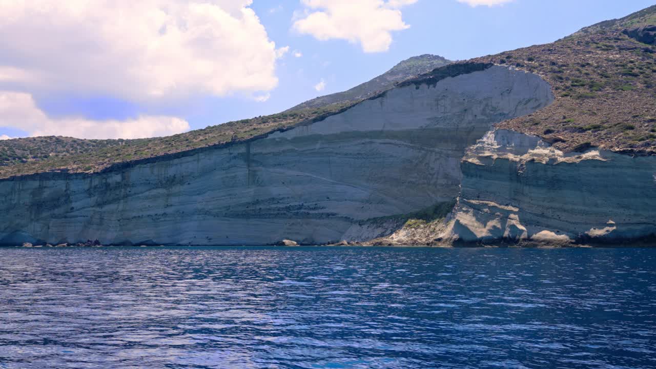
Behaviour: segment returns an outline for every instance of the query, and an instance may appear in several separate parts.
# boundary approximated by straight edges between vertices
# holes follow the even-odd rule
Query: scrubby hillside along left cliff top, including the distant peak
[[[198,148],[248,141],[337,114],[364,98],[389,89],[395,81],[403,81],[449,63],[449,60],[437,55],[414,56],[403,60],[382,76],[345,93],[316,98],[279,114],[232,121],[170,137],[137,140],[31,137],[0,141],[0,178],[52,171],[91,173],[115,163],[139,162]]]

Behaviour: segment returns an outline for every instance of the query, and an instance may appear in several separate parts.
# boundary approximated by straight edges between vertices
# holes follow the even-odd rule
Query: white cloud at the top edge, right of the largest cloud
[[[293,28],[319,40],[344,39],[359,43],[365,53],[388,51],[392,32],[409,28],[401,7],[417,0],[301,0]]]

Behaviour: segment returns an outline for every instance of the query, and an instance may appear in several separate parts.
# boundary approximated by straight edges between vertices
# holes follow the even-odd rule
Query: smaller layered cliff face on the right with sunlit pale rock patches
[[[462,161],[445,238],[550,244],[636,241],[656,234],[656,158],[563,153],[538,137],[490,131]]]

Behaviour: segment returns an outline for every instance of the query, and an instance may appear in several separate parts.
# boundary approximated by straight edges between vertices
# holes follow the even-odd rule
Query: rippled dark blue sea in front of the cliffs
[[[0,368],[656,368],[656,249],[0,249]]]

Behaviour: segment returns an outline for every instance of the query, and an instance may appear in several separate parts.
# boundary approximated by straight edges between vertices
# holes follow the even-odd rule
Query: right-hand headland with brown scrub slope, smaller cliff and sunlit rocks
[[[654,30],[656,6],[470,60],[539,74],[554,103],[495,124],[468,149],[445,219],[411,219],[368,244],[653,244]]]

